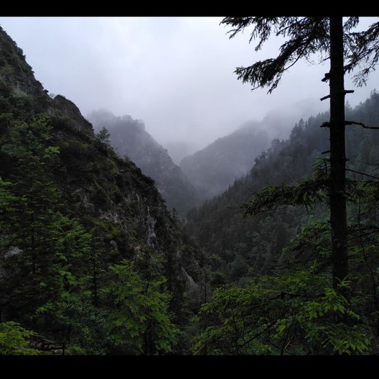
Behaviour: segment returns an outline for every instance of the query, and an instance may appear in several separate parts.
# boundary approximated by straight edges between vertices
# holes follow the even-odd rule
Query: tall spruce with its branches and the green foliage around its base
[[[352,32],[359,17],[225,17],[231,37],[252,27],[250,40],[260,50],[271,34],[284,37],[274,58],[236,68],[238,79],[272,92],[283,73],[300,59],[318,54],[330,61],[322,79],[329,81],[328,154],[311,175],[294,184],[265,186],[245,204],[245,215],[274,213],[283,206],[306,209],[327,206],[327,220],[303,226],[282,250],[284,263],[267,274],[254,274],[247,288],[216,291],[198,315],[203,331],[194,351],[212,354],[362,354],[377,351],[378,294],[376,211],[378,185],[347,162],[346,128],[360,125],[378,130],[345,114],[346,72],[355,71],[362,85],[379,61],[379,23]],[[354,165],[354,162],[352,162]],[[376,163],[365,162],[367,165]],[[351,178],[347,173],[364,178]],[[358,209],[348,205],[358,204]],[[349,214],[350,213],[350,214]],[[282,254],[283,255],[283,254]],[[287,266],[287,269],[285,269]]]

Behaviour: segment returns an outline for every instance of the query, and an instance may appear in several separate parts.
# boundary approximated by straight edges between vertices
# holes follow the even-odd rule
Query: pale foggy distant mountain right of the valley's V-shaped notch
[[[181,161],[181,169],[201,200],[221,194],[245,174],[269,146],[262,122],[250,121]]]

